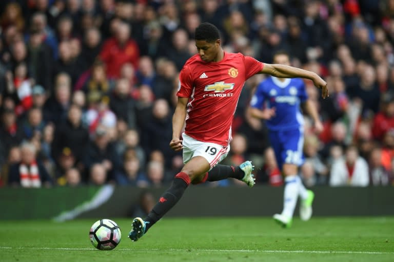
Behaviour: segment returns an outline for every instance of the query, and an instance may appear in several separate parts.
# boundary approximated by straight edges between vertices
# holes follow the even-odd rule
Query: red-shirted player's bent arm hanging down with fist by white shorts
[[[175,151],[182,150],[181,132],[186,119],[186,106],[189,102],[189,97],[178,97],[175,112],[172,116],[172,140],[170,147]]]

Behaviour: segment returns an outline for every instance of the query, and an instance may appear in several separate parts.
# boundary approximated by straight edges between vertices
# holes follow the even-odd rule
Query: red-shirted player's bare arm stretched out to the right
[[[259,72],[263,74],[270,74],[279,78],[295,78],[302,77],[313,81],[314,86],[322,89],[322,97],[328,96],[327,83],[316,73],[307,71],[301,68],[279,65],[279,64],[264,64],[263,69]]]

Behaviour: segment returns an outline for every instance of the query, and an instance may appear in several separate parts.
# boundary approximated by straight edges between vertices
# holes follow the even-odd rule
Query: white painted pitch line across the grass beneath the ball
[[[0,249],[30,249],[30,250],[75,250],[75,251],[95,251],[94,248],[44,248],[44,247],[0,247]],[[133,249],[117,248],[122,251],[192,251],[192,252],[258,252],[258,253],[303,253],[303,254],[365,254],[365,255],[393,255],[394,252],[378,251],[319,251],[319,250],[248,250],[248,249]]]

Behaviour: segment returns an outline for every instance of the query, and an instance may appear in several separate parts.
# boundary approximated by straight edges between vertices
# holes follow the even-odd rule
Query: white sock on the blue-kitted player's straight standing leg
[[[297,175],[286,176],[285,178],[282,214],[288,217],[293,217],[295,204],[297,204],[300,188],[297,178]]]

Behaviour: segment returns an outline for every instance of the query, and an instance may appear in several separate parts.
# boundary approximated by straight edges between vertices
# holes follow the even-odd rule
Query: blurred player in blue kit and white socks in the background
[[[286,52],[273,56],[274,64],[290,65]],[[316,85],[316,83],[315,83]],[[306,94],[301,78],[287,78],[284,74],[272,74],[257,87],[251,101],[250,113],[266,119],[271,146],[275,152],[278,167],[285,176],[283,211],[273,215],[284,228],[291,226],[295,204],[300,196],[300,217],[308,220],[312,215],[314,194],[306,190],[298,174],[303,163],[304,120],[300,106],[313,118],[317,132],[323,130],[316,107]]]

